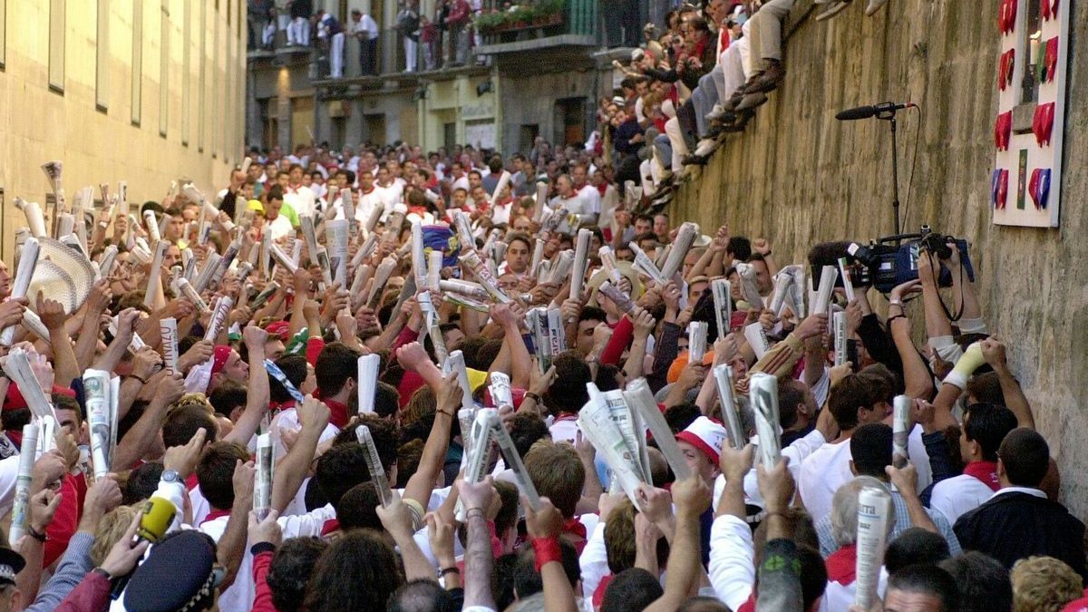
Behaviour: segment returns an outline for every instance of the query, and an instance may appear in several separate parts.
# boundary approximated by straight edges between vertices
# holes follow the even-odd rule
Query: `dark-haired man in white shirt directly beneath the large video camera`
[[[832,389],[827,409],[839,425],[839,437],[808,455],[798,478],[798,494],[814,522],[831,512],[834,492],[854,477],[850,470],[850,437],[854,430],[880,423],[891,412],[891,388],[882,376],[866,370],[848,374]]]

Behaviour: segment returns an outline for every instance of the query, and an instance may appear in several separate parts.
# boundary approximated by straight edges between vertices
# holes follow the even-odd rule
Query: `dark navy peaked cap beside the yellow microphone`
[[[129,612],[199,610],[223,579],[215,571],[215,544],[201,531],[186,529],[151,547],[125,589]]]

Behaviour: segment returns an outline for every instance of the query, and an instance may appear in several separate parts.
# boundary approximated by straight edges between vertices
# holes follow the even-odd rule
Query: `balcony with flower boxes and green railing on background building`
[[[557,48],[597,47],[595,0],[536,0],[514,10],[492,9],[477,17],[483,44],[475,56],[498,56]]]

